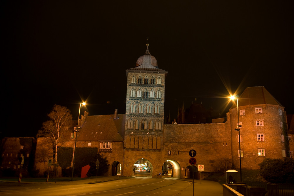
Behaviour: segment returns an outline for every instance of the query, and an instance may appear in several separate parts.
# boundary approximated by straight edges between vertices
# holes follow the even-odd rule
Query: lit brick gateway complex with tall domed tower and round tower
[[[175,178],[190,177],[191,149],[196,150],[196,164],[204,165],[205,172],[215,171],[222,158],[232,160],[238,170],[240,155],[242,168],[247,169],[258,169],[264,158],[293,158],[284,107],[262,86],[248,87],[238,98],[241,152],[234,130],[238,123],[235,106],[224,123],[165,125],[167,73],[158,68],[147,45],[136,66],[126,70],[126,114],[115,110],[113,115],[85,112],[82,116],[77,147],[98,148],[110,163],[108,175],[131,176],[133,168],[142,164],[154,178],[161,177],[163,168]],[[73,139],[69,140],[66,144],[72,147]],[[46,168],[46,163],[36,166]]]

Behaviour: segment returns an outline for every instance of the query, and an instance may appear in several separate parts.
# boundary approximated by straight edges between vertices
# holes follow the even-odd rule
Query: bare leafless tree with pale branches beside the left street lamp
[[[36,137],[46,137],[51,139],[53,145],[53,163],[57,164],[57,145],[62,134],[69,131],[72,127],[72,115],[70,110],[61,105],[54,105],[51,112],[47,115],[49,120],[43,122],[41,130]]]

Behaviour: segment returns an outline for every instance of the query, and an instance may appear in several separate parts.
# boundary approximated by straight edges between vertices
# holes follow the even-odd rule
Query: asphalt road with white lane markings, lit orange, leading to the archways
[[[202,181],[203,182],[203,181]],[[194,195],[222,196],[222,187],[216,182],[194,183]],[[210,183],[216,183],[213,188]],[[6,190],[5,190],[6,188]],[[136,177],[118,179],[102,183],[52,183],[52,184],[21,184],[0,183],[0,196],[79,196],[79,195],[105,195],[105,196],[192,196],[193,184],[190,181],[174,178],[148,178]]]

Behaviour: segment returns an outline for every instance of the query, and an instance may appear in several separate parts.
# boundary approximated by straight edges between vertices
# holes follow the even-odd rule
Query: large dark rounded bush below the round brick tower
[[[260,175],[270,183],[293,183],[294,160],[266,158],[259,164]]]

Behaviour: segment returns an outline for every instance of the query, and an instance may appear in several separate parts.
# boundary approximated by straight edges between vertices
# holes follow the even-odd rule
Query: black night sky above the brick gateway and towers
[[[165,115],[265,88],[294,114],[294,1],[1,1],[1,137],[35,137],[54,104],[125,113],[126,69],[168,71]],[[85,108],[81,109],[81,113]]]

